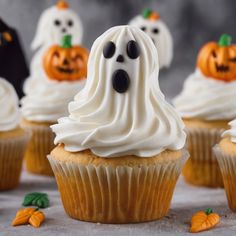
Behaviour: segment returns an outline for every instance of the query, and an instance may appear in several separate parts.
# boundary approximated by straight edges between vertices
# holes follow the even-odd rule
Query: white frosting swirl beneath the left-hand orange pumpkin
[[[85,81],[58,82],[43,76],[27,79],[24,84],[26,96],[21,100],[23,117],[29,121],[55,122],[68,115],[68,103],[84,87]]]

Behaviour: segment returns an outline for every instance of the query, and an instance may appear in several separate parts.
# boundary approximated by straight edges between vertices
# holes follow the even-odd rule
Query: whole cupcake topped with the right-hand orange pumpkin
[[[200,50],[196,71],[174,99],[187,129],[190,158],[183,169],[187,182],[223,187],[212,147],[219,142],[228,122],[236,117],[236,45],[222,35]]]

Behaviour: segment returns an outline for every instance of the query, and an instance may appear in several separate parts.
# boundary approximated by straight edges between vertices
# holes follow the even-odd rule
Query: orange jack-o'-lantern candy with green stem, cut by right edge
[[[206,77],[230,82],[236,80],[236,45],[223,34],[218,43],[209,42],[200,50],[197,67]]]

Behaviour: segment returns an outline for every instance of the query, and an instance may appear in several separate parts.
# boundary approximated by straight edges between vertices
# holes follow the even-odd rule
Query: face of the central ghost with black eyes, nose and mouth
[[[113,71],[111,82],[117,93],[125,93],[129,90],[134,64],[137,63],[140,53],[140,47],[135,40],[121,40],[118,44],[112,41],[105,43],[103,57]]]

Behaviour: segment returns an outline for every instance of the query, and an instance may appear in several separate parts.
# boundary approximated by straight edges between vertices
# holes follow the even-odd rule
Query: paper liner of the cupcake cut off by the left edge
[[[8,190],[19,184],[24,153],[30,133],[0,139],[0,190]]]

